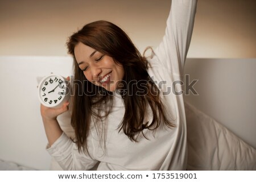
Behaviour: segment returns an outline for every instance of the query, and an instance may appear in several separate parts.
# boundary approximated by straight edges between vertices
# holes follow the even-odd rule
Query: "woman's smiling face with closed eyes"
[[[81,42],[75,46],[75,57],[86,79],[110,92],[118,88],[125,75],[123,66],[116,64],[112,57]]]

